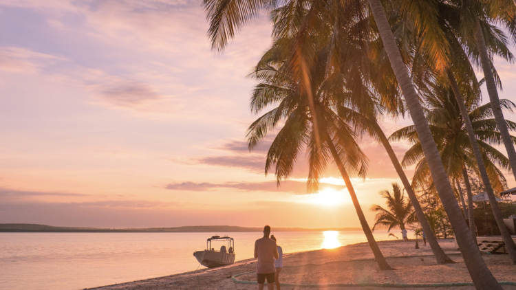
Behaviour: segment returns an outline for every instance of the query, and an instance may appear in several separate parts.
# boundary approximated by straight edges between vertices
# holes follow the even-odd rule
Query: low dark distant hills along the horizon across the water
[[[149,227],[107,229],[100,227],[53,227],[33,223],[0,223],[0,232],[262,232],[263,227],[237,227],[233,225],[190,225],[186,227]],[[273,232],[355,231],[360,227],[305,229],[302,227],[273,227]]]

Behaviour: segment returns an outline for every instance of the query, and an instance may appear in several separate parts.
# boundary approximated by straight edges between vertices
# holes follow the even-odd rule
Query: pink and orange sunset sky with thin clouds
[[[201,1],[0,0],[0,223],[359,227],[336,170],[307,194],[301,155],[278,188],[271,139],[247,149],[267,17],[223,54],[207,30]],[[516,67],[495,65],[515,101]],[[387,134],[411,124],[382,121]],[[378,144],[361,145],[369,173],[353,184],[372,225],[378,192],[400,181]],[[401,159],[408,144],[393,146]]]

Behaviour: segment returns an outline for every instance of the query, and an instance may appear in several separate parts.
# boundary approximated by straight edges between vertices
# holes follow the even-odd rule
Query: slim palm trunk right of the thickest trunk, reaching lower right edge
[[[464,124],[466,125],[466,131],[468,132],[469,142],[471,142],[471,147],[473,148],[473,153],[475,153],[475,159],[477,160],[478,169],[480,171],[480,177],[482,177],[482,182],[484,183],[484,187],[486,188],[487,196],[489,198],[489,203],[491,203],[491,210],[493,210],[493,214],[495,216],[496,223],[502,234],[502,238],[504,239],[504,243],[507,246],[507,250],[509,252],[510,258],[513,260],[513,263],[516,264],[516,244],[514,243],[513,238],[510,237],[510,233],[504,223],[504,218],[502,213],[498,208],[498,202],[496,201],[495,192],[493,191],[493,187],[491,186],[491,181],[489,181],[489,177],[487,175],[486,166],[484,165],[484,159],[482,159],[482,153],[480,152],[480,146],[478,146],[477,140],[475,139],[475,131],[473,131],[473,126],[471,125],[471,120],[469,119],[469,114],[466,109],[466,105],[464,104],[464,99],[462,98],[462,94],[460,93],[459,86],[455,81],[455,77],[452,72],[448,70],[448,78],[451,83],[451,87],[453,89],[453,93],[455,94],[455,98],[459,104],[460,113],[462,115],[462,119],[464,119]],[[505,124],[505,120],[504,120]]]

